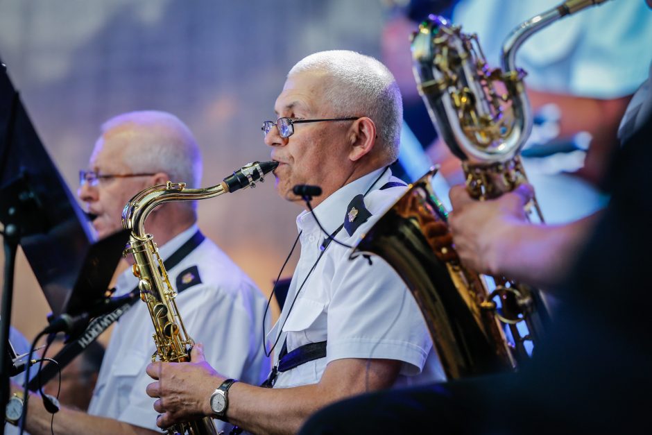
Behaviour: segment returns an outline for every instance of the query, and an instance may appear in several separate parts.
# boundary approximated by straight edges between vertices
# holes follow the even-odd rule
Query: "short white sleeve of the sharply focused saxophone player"
[[[404,362],[403,375],[421,372],[432,346],[427,327],[409,290],[383,259],[339,264],[331,297],[327,361],[396,359]]]

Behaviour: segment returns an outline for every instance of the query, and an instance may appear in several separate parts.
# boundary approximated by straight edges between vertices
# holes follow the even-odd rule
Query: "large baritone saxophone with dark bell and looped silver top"
[[[545,26],[604,1],[569,0],[523,22],[503,44],[502,69],[488,67],[476,35],[443,17],[430,15],[413,35],[420,94],[439,136],[462,160],[473,198],[496,198],[527,180],[518,153],[531,132],[532,114],[525,73],[515,67],[517,49]],[[352,255],[379,255],[403,278],[449,379],[514,370],[531,355],[547,310],[537,289],[460,264],[447,212],[431,187],[436,171],[410,185]],[[543,221],[535,199],[526,211]]]

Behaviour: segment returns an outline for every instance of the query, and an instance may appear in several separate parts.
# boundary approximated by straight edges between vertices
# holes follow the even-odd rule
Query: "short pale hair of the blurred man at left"
[[[122,155],[133,172],[164,172],[172,182],[200,187],[201,152],[190,129],[178,117],[157,110],[119,114],[103,123],[102,134],[114,128],[128,128],[134,135]],[[196,201],[183,204],[196,208]]]

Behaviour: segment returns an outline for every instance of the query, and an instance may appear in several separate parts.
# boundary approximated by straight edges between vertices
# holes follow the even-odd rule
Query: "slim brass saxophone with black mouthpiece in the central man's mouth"
[[[147,216],[162,203],[169,201],[194,201],[212,198],[241,188],[254,187],[264,181],[264,175],[273,171],[278,162],[254,162],[247,164],[218,185],[204,189],[187,189],[185,183],[167,182],[166,185],[149,187],[136,194],[122,212],[123,228],[131,230],[130,247],[125,255],[133,255],[132,271],[139,279],[140,298],[147,304],[154,325],[153,339],[156,352],[152,361],[183,362],[190,360],[194,341],[185,330],[175,302],[176,293],[170,284],[163,260],[153,241],[152,234],[144,229]],[[216,434],[209,417],[179,423],[167,429],[169,435]]]

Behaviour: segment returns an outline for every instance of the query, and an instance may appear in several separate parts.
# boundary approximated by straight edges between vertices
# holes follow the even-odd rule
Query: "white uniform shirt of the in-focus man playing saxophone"
[[[374,171],[345,185],[318,205],[315,213],[325,230],[333,232],[344,222],[347,207],[357,194],[380,176]],[[372,216],[349,236],[343,228],[335,239],[354,244],[405,191],[402,187],[379,190],[388,181],[400,181],[387,171],[364,198]],[[445,379],[423,317],[404,282],[380,257],[349,259],[350,249],[332,241],[289,309],[301,283],[315,264],[325,237],[309,212],[297,218],[301,256],[295,269],[279,321],[268,334],[273,343],[278,325],[282,335],[275,355],[287,337],[287,350],[307,343],[327,341],[324,358],[280,373],[275,388],[316,384],[330,361],[342,358],[397,359],[403,361],[395,386]]]

